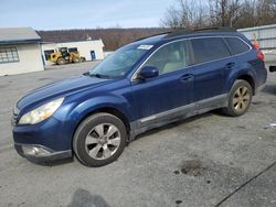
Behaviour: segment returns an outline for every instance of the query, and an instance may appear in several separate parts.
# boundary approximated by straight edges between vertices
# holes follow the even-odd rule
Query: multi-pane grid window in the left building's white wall
[[[18,50],[15,46],[0,46],[0,63],[19,62]]]

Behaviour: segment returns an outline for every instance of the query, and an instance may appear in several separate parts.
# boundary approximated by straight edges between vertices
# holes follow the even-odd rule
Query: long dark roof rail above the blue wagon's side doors
[[[166,35],[163,39],[171,39],[174,36],[185,35],[185,34],[193,34],[193,33],[212,33],[212,32],[236,32],[235,29],[232,28],[203,28],[197,30],[174,30]]]

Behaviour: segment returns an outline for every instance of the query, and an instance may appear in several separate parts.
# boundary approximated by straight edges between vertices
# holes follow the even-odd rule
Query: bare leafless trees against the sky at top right
[[[276,23],[276,0],[176,0],[161,22],[172,29],[273,24]]]

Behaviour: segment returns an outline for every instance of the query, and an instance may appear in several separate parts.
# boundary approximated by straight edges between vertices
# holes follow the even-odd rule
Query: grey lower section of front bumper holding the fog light
[[[67,157],[72,157],[72,151],[60,151],[54,152],[42,145],[31,145],[31,144],[19,144],[14,143],[17,152],[30,161],[34,162],[46,162],[46,161],[56,161]]]

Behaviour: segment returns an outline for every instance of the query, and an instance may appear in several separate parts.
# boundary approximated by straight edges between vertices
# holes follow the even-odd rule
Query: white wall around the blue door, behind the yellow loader
[[[79,41],[79,42],[66,42],[66,43],[43,43],[42,44],[42,55],[46,65],[51,65],[49,61],[45,59],[44,51],[55,50],[59,47],[77,47],[79,55],[85,57],[86,61],[92,61],[91,51],[95,51],[96,59],[104,59],[104,43],[102,40],[93,41]]]

